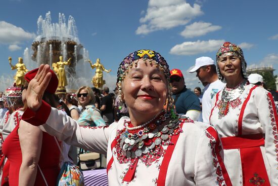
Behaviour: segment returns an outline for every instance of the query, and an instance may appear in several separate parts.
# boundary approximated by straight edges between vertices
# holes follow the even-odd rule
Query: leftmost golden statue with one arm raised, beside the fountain
[[[24,75],[25,72],[27,72],[28,70],[25,64],[23,63],[22,57],[18,58],[18,63],[16,65],[12,65],[12,57],[9,57],[9,63],[12,70],[17,69],[16,76],[14,76],[15,86],[17,87],[23,86],[25,83]]]

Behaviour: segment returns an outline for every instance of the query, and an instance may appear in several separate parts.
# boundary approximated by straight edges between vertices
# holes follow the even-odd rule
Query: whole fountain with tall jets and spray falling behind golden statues
[[[67,92],[74,92],[80,85],[90,86],[91,73],[88,63],[88,51],[80,44],[77,36],[75,20],[69,16],[68,22],[64,14],[59,13],[58,23],[52,23],[51,13],[45,14],[45,18],[39,16],[37,20],[37,36],[32,43],[32,51],[28,48],[24,51],[24,60],[30,69],[40,64],[49,64],[59,61],[59,56],[65,60],[71,58],[71,64],[65,68],[66,76],[70,84],[66,86]],[[78,71],[82,74],[78,75]],[[85,72],[85,73],[84,73]],[[88,77],[84,77],[88,76]],[[81,77],[82,76],[82,77]]]

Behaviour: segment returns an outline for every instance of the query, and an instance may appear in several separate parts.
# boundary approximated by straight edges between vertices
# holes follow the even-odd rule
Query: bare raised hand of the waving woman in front
[[[41,106],[41,99],[51,79],[50,66],[41,64],[36,76],[29,82],[26,92],[27,106],[36,111]]]

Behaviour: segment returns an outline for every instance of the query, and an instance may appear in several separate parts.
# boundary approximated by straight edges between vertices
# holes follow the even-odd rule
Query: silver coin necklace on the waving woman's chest
[[[171,117],[170,113],[163,110],[160,115],[152,119],[144,128],[132,129],[130,121],[124,121],[125,128],[118,130],[117,135],[117,160],[119,163],[128,163],[130,166],[140,158],[145,164],[148,158],[161,157],[165,150],[162,145],[173,144],[173,135],[182,132],[180,118],[172,119],[167,125],[161,125]],[[132,130],[128,130],[128,128]]]

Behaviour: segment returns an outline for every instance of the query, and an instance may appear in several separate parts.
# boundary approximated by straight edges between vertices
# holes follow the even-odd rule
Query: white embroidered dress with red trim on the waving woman
[[[162,145],[160,156],[150,155],[145,163],[142,157],[138,157],[131,181],[123,181],[130,163],[119,160],[117,148],[120,145],[115,139],[119,139],[119,132],[125,128],[124,120],[129,121],[129,118],[123,117],[109,127],[82,127],[59,110],[51,108],[45,111],[48,109],[41,106],[32,116],[32,111],[27,110],[23,120],[40,125],[42,130],[68,144],[107,154],[109,185],[230,185],[223,181],[225,173],[222,170],[225,168],[219,153],[218,135],[207,124],[179,120],[178,126],[182,131],[176,137],[172,136],[173,144]],[[45,113],[49,116],[45,117]]]

